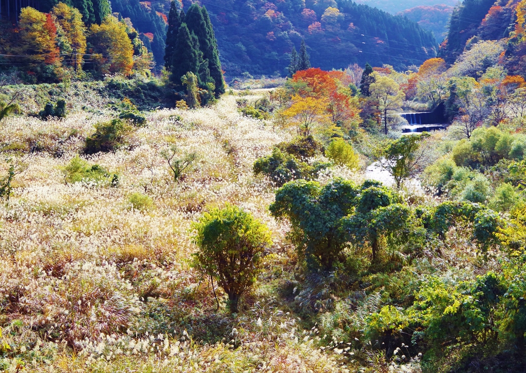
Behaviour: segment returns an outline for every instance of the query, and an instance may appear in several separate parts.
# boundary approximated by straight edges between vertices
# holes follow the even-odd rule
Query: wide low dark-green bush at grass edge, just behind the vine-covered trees
[[[291,180],[316,178],[320,170],[329,167],[326,162],[314,162],[309,164],[296,158],[294,155],[281,152],[277,147],[272,154],[261,157],[254,162],[255,175],[265,174],[278,186]]]

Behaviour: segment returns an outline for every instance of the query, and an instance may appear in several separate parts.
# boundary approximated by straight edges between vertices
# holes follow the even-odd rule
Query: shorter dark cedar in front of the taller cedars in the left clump
[[[181,24],[177,33],[177,41],[171,56],[170,80],[177,87],[181,86],[181,77],[188,72],[198,75],[199,53],[196,51],[194,41],[186,23]]]

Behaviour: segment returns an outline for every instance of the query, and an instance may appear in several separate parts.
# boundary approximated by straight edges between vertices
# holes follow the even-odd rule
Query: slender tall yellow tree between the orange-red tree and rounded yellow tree
[[[52,15],[55,22],[64,30],[65,37],[72,47],[70,65],[80,68],[83,55],[86,53],[86,26],[82,22],[82,14],[76,8],[58,3],[53,8]]]

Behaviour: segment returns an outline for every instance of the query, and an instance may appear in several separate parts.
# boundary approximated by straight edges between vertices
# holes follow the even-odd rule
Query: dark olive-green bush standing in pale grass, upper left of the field
[[[97,123],[95,132],[86,138],[85,154],[114,152],[126,145],[126,136],[133,130],[129,124],[120,119]]]

